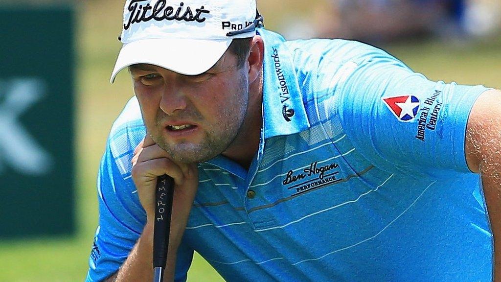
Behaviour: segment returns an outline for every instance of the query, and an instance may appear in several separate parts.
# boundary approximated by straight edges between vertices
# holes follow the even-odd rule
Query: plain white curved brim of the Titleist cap
[[[226,52],[231,39],[196,40],[182,38],[144,39],[124,44],[111,74],[135,64],[151,64],[180,74],[198,75],[213,67]]]

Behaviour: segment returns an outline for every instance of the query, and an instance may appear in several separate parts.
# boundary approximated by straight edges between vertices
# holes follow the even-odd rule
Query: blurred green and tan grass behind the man
[[[0,1],[1,2],[1,1]],[[28,1],[29,2],[29,1]],[[36,1],[39,5],[54,1]],[[60,2],[58,2],[60,3]],[[127,72],[109,83],[120,49],[122,0],[65,2],[77,13],[76,65],[76,203],[77,232],[64,238],[0,242],[0,281],[83,281],[97,226],[96,175],[113,120],[133,95]],[[44,4],[45,5],[45,4]],[[318,12],[322,1],[259,2],[268,29],[281,31],[284,19]],[[499,36],[462,39],[426,39],[385,44],[385,50],[432,80],[501,87]],[[6,215],[2,215],[6,216]],[[195,256],[189,281],[221,281],[203,258]]]

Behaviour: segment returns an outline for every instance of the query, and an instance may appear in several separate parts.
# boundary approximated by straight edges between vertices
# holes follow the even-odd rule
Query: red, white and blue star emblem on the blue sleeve
[[[382,98],[388,109],[398,120],[409,122],[414,120],[421,103],[416,96],[406,95],[398,97]]]

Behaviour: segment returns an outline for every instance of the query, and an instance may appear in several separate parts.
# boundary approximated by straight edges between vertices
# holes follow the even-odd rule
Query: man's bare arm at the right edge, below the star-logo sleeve
[[[480,173],[494,236],[494,281],[501,281],[501,91],[483,93],[473,105],[466,133],[466,162]]]

